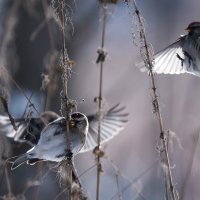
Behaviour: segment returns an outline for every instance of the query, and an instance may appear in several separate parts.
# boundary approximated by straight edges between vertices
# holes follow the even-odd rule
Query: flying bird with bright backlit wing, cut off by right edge
[[[154,72],[200,76],[200,22],[190,23],[185,30],[187,35],[155,55]],[[141,67],[141,63],[138,66]]]

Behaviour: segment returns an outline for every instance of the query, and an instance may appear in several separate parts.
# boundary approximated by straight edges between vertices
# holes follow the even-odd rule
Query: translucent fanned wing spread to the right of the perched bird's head
[[[110,108],[101,119],[101,144],[107,142],[117,135],[128,122],[128,113],[124,112],[125,107],[120,107],[119,104]],[[84,147],[81,153],[94,149],[97,146],[98,138],[98,115],[87,116],[89,121],[89,130]]]

